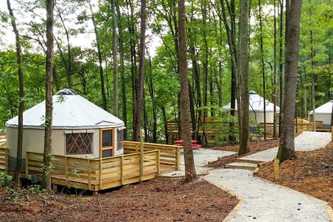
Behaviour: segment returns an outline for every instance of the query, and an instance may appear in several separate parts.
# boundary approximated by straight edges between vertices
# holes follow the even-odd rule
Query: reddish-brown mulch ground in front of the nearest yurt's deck
[[[0,216],[6,221],[222,221],[238,200],[202,180],[183,183],[155,178],[100,194],[0,195]]]

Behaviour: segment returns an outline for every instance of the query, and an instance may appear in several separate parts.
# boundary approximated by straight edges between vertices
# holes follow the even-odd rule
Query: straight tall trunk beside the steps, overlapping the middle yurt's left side
[[[240,151],[249,152],[249,1],[240,0]]]

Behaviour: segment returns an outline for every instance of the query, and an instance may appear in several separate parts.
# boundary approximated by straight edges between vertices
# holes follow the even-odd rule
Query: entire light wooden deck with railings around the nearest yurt
[[[0,134],[0,170],[8,171],[6,133]],[[84,159],[53,155],[53,185],[64,185],[97,192],[129,183],[155,178],[160,173],[175,171],[180,167],[180,150],[177,145],[124,141],[124,155],[100,159]],[[36,175],[41,180],[43,154],[27,152],[22,178]]]

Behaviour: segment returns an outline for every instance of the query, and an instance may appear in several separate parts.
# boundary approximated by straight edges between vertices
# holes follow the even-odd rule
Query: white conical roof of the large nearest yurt
[[[45,100],[23,112],[23,128],[44,129]],[[6,122],[18,127],[18,117]],[[53,129],[100,129],[124,126],[124,122],[85,98],[62,90],[53,96]]]

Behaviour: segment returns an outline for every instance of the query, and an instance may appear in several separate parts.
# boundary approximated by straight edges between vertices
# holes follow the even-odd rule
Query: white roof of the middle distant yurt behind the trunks
[[[230,109],[230,103],[223,107]],[[237,100],[235,100],[235,110],[237,110]],[[266,112],[273,112],[274,104],[266,99]],[[280,111],[280,107],[276,106],[276,112]],[[255,91],[249,91],[249,112],[263,112],[263,98]]]

